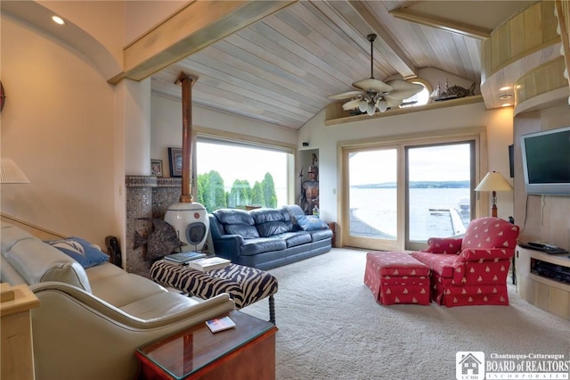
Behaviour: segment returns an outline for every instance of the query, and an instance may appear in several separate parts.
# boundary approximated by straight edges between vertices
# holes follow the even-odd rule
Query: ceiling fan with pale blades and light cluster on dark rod
[[[371,42],[371,78],[354,82],[353,87],[359,88],[358,91],[329,95],[327,98],[331,100],[351,98],[342,105],[343,110],[358,108],[360,112],[366,112],[372,116],[376,110],[385,112],[388,108],[399,106],[404,99],[418,94],[423,87],[402,79],[389,80],[384,83],[374,78],[374,40],[376,40],[376,35],[369,34],[367,37]]]

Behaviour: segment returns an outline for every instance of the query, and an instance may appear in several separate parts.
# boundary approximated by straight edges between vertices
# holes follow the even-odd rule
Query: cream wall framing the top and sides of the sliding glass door
[[[337,165],[339,141],[439,129],[486,127],[489,169],[500,171],[509,179],[508,147],[513,144],[512,108],[486,111],[484,103],[474,103],[332,126],[324,125],[324,117],[324,111],[316,115],[300,129],[297,138],[297,146],[300,147],[304,141],[310,141],[311,148],[319,149],[319,199],[323,219],[339,221],[337,199],[341,196],[342,188]],[[512,183],[510,179],[509,182]],[[333,189],[336,189],[336,194],[333,194]],[[513,215],[513,195],[499,194],[498,207],[500,218],[507,219]],[[491,204],[487,210],[490,212]]]

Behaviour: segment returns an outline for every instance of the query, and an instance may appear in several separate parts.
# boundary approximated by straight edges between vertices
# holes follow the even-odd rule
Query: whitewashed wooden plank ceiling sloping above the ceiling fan
[[[415,78],[436,68],[480,82],[481,40],[530,1],[300,1],[152,76],[155,94],[181,98],[181,71],[199,77],[192,102],[301,128],[371,76]],[[392,12],[393,11],[393,12]]]

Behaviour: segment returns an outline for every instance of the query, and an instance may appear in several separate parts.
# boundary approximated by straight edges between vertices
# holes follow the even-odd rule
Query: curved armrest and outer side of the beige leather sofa
[[[75,286],[45,282],[30,288],[40,300],[40,307],[32,310],[32,324],[41,378],[134,378],[137,347],[234,310],[228,294],[221,294],[144,319]]]

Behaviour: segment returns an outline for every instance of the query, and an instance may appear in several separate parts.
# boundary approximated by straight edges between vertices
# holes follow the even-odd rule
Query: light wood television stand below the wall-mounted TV
[[[570,258],[517,245],[517,293],[520,298],[560,318],[570,320]]]

